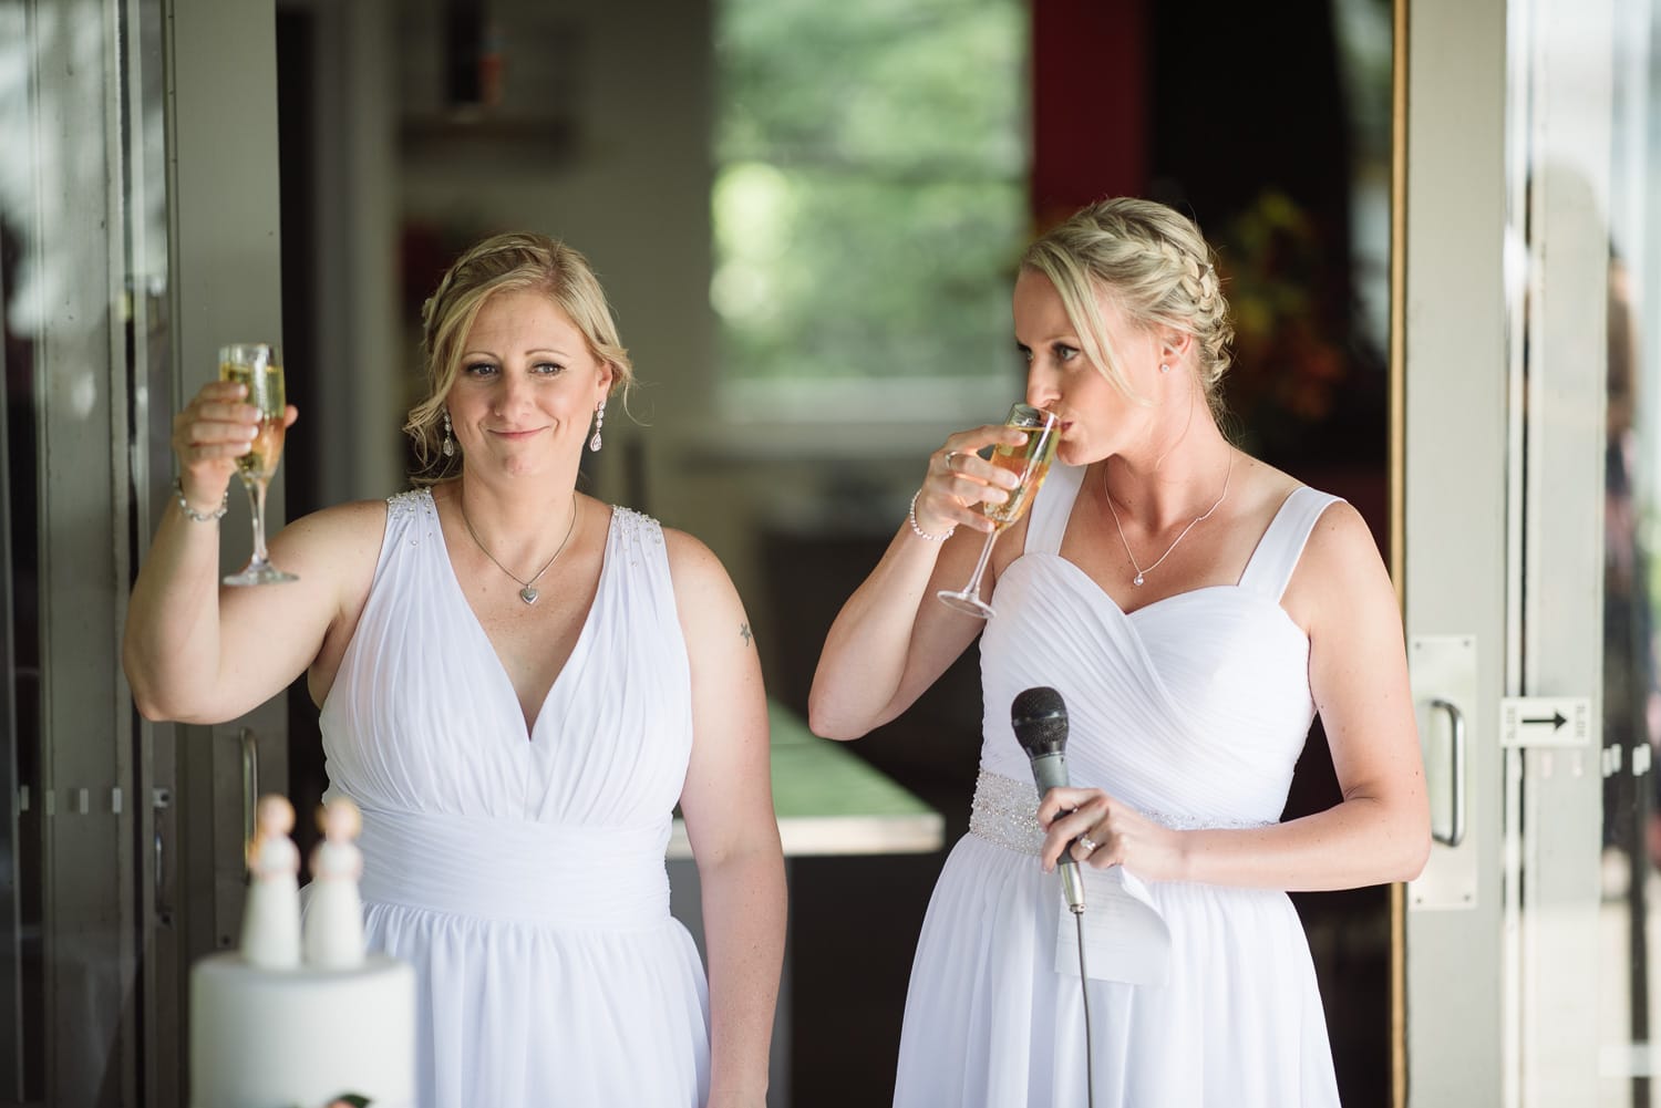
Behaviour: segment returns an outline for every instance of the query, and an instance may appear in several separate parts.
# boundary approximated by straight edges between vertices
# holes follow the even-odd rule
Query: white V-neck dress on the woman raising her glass
[[[696,1108],[708,988],[664,869],[691,676],[661,528],[611,510],[527,734],[432,495],[387,503],[322,743],[329,794],[364,814],[367,942],[417,970],[422,1108]]]

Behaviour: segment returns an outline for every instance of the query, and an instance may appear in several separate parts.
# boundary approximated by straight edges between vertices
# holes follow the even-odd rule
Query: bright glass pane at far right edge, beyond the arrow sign
[[[1648,1108],[1661,1075],[1661,804],[1654,753],[1661,741],[1661,12],[1653,2],[1614,0],[1608,38],[1588,43],[1581,70],[1605,103],[1586,103],[1583,128],[1606,150],[1585,150],[1595,171],[1538,154],[1535,176],[1556,183],[1561,203],[1580,201],[1586,226],[1583,269],[1601,312],[1603,344],[1585,351],[1601,374],[1590,429],[1601,437],[1601,681],[1600,819],[1590,877],[1596,895],[1596,1103]],[[1541,28],[1545,32],[1545,28]],[[1603,50],[1596,50],[1596,47]],[[1603,108],[1603,111],[1596,111]],[[1565,120],[1560,126],[1571,126]],[[1555,153],[1548,145],[1543,153]],[[1556,168],[1561,164],[1561,168]],[[1596,169],[1601,169],[1603,176]],[[1590,183],[1590,188],[1588,188]],[[1596,251],[1596,252],[1593,252]],[[1596,272],[1593,272],[1596,271]]]

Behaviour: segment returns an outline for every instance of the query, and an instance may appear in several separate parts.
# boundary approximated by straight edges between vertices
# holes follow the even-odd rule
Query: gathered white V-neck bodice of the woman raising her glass
[[[613,508],[595,603],[527,736],[432,495],[404,493],[324,701],[329,782],[367,811],[668,826],[693,744],[689,681],[663,532]]]

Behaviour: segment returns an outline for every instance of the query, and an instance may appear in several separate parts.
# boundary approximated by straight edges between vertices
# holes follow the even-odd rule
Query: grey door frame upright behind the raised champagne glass
[[[168,360],[149,379],[149,412],[135,417],[133,495],[143,505],[135,547],[149,548],[171,498],[171,414],[218,375],[224,342],[282,342],[277,43],[272,0],[161,0],[166,12],[164,301]],[[161,409],[156,412],[154,409]],[[224,571],[247,558],[246,497],[231,490],[221,522]],[[282,472],[266,502],[282,527]],[[140,555],[143,556],[143,555]],[[216,726],[143,719],[140,829],[146,958],[145,1103],[184,1103],[189,967],[236,945],[252,792],[287,794],[287,699]],[[158,872],[159,870],[159,872]]]

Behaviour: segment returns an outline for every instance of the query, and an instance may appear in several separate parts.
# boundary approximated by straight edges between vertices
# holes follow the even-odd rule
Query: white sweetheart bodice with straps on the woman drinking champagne
[[[1000,615],[980,643],[982,766],[1031,776],[1010,704],[1048,684],[1066,699],[1073,784],[1189,826],[1277,821],[1316,714],[1309,640],[1281,593],[1334,498],[1297,488],[1239,583],[1126,615],[1058,553],[1081,473],[1051,472],[1026,550],[998,578]]]

